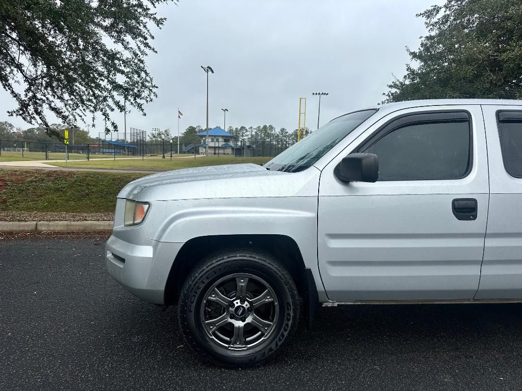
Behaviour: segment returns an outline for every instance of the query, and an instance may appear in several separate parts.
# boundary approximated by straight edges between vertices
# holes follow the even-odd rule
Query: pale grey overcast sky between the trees
[[[299,98],[307,98],[306,126],[317,126],[360,107],[382,101],[386,84],[402,77],[409,62],[405,46],[417,48],[425,34],[415,14],[440,0],[180,0],[158,9],[167,17],[156,30],[158,53],[148,66],[159,86],[147,116],[127,114],[127,128],[170,128],[177,135],[177,107],[184,114],[181,131],[205,126],[206,75],[210,65],[209,125],[264,124],[295,129]],[[0,120],[28,127],[5,113],[15,107],[0,89]],[[54,122],[55,118],[49,116]],[[123,114],[115,114],[123,129]],[[102,130],[97,121],[97,135]],[[81,126],[81,124],[80,124]]]

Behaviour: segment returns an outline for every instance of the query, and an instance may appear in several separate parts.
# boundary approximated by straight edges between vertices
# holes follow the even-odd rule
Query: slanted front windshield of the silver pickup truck
[[[288,173],[296,173],[310,167],[376,111],[377,109],[363,110],[330,121],[281,152],[266,163],[265,167]]]

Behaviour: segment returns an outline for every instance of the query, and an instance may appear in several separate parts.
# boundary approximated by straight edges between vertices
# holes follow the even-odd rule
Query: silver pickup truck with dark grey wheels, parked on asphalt
[[[135,180],[106,265],[228,366],[269,359],[321,303],[520,302],[522,102],[366,108],[264,166]]]

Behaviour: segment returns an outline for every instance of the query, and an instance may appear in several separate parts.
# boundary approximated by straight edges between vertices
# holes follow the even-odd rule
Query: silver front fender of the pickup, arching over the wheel
[[[177,243],[217,235],[288,236],[312,272],[319,300],[326,298],[317,265],[317,197],[169,201],[156,232],[155,240]]]

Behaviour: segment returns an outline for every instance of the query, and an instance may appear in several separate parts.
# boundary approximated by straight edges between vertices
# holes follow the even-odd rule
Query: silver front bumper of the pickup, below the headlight
[[[113,233],[105,246],[105,264],[116,281],[134,296],[163,304],[167,278],[184,243],[147,242],[134,245]]]

